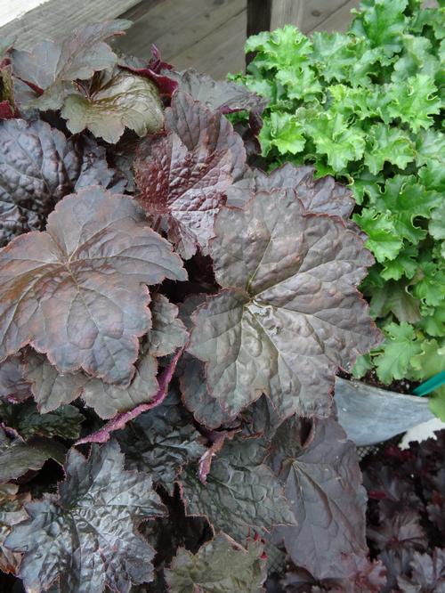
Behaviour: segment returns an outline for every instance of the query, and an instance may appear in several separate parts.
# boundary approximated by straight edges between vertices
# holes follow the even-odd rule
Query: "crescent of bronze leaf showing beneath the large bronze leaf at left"
[[[151,329],[135,363],[134,378],[129,386],[110,385],[82,371],[61,374],[42,354],[28,352],[25,375],[32,384],[39,410],[56,410],[61,404],[82,396],[101,418],[112,418],[119,412],[151,402],[159,388],[156,357],[173,353],[184,345],[187,332],[182,321],[177,319],[177,307],[165,296],[155,295],[150,310]]]

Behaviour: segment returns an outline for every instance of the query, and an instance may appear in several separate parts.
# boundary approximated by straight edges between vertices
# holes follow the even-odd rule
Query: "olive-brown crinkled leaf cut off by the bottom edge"
[[[166,570],[171,593],[261,593],[266,561],[261,540],[249,541],[247,549],[224,533],[191,554],[179,548]]]

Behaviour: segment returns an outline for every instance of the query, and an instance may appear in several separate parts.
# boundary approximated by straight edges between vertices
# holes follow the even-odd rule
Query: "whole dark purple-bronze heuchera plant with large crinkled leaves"
[[[258,591],[284,545],[316,580],[373,574],[332,404],[380,340],[349,191],[250,167],[263,99],[118,57],[128,26],[0,39],[0,568]]]

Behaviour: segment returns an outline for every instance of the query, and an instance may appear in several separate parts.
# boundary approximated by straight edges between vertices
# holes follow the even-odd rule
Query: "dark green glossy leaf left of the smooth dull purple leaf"
[[[186,468],[182,498],[187,513],[206,516],[216,529],[238,542],[251,530],[263,533],[273,525],[294,524],[279,481],[258,461],[260,448],[256,441],[226,442],[205,484],[199,481],[195,467]]]

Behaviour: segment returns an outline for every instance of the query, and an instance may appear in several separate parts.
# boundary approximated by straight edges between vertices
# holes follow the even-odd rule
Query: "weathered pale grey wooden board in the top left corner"
[[[143,1],[150,8],[150,0]],[[135,4],[138,0],[47,0],[1,27],[0,35],[16,37],[17,47],[32,48],[38,41],[64,37],[87,23],[115,19]]]

